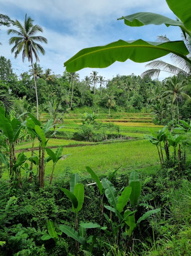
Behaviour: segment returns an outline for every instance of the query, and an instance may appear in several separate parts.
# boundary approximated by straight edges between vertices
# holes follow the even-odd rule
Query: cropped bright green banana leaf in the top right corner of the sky
[[[191,31],[191,3],[190,0],[166,0],[169,8]]]

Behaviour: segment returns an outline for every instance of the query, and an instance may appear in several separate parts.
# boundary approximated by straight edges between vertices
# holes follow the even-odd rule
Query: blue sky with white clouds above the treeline
[[[0,12],[12,20],[17,19],[23,23],[27,13],[34,20],[34,25],[42,26],[44,32],[41,35],[47,38],[48,43],[43,44],[46,53],[39,56],[40,66],[52,69],[55,74],[62,74],[65,70],[63,63],[83,48],[105,45],[119,39],[156,41],[157,35],[180,40],[178,27],[129,27],[123,20],[117,20],[136,12],[156,12],[175,19],[165,0],[0,0],[0,6]],[[27,59],[23,63],[21,55],[17,59],[11,55],[8,28],[1,26],[0,29],[0,42],[3,44],[0,46],[0,55],[11,60],[13,71],[18,75],[28,71],[30,63]],[[168,56],[162,59],[170,62]],[[105,79],[110,79],[116,74],[141,74],[146,70],[144,65],[128,60],[93,70]],[[92,68],[78,71],[81,79],[91,72]],[[167,75],[161,73],[160,79]]]

